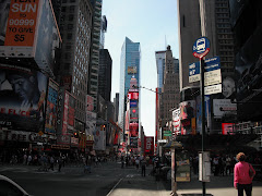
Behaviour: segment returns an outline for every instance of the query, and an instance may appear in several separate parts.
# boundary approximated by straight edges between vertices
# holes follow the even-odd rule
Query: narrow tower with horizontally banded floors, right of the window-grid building
[[[95,110],[97,108],[98,93],[98,72],[99,72],[99,46],[100,46],[100,25],[102,25],[102,0],[91,0],[93,5],[93,28],[92,28],[92,47],[91,47],[91,65],[88,79],[88,94],[93,96]]]

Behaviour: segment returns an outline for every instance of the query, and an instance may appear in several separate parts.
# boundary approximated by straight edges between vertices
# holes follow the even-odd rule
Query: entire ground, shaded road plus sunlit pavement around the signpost
[[[61,172],[38,172],[33,166],[1,166],[0,174],[9,176],[29,194],[35,196],[168,196],[171,193],[170,179],[166,182],[155,181],[148,175],[141,176],[141,170],[134,167],[121,169],[120,162],[106,162],[92,168],[92,173],[84,174],[81,167],[66,166]],[[178,183],[179,196],[202,195],[202,183],[192,174],[190,183]],[[261,181],[253,181],[252,196],[261,196]],[[211,176],[206,183],[209,196],[236,196],[233,187],[233,175]]]

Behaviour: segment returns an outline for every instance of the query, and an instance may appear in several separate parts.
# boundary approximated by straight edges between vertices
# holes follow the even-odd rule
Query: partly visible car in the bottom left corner
[[[0,195],[1,196],[29,196],[25,189],[11,179],[0,175]]]

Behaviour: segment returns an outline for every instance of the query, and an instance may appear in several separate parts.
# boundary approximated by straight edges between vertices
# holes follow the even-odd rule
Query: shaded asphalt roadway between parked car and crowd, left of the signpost
[[[118,196],[162,195],[163,186],[153,176],[141,176],[134,167],[121,169],[120,163],[108,162],[84,173],[83,168],[66,167],[61,172],[38,172],[37,167],[3,166],[3,174],[35,196]],[[147,194],[145,194],[145,192]]]

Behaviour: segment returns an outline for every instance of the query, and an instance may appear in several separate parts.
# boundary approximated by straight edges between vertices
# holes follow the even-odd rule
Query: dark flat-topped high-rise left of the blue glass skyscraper
[[[112,60],[107,49],[99,50],[98,94],[110,101],[111,97],[111,65]]]

